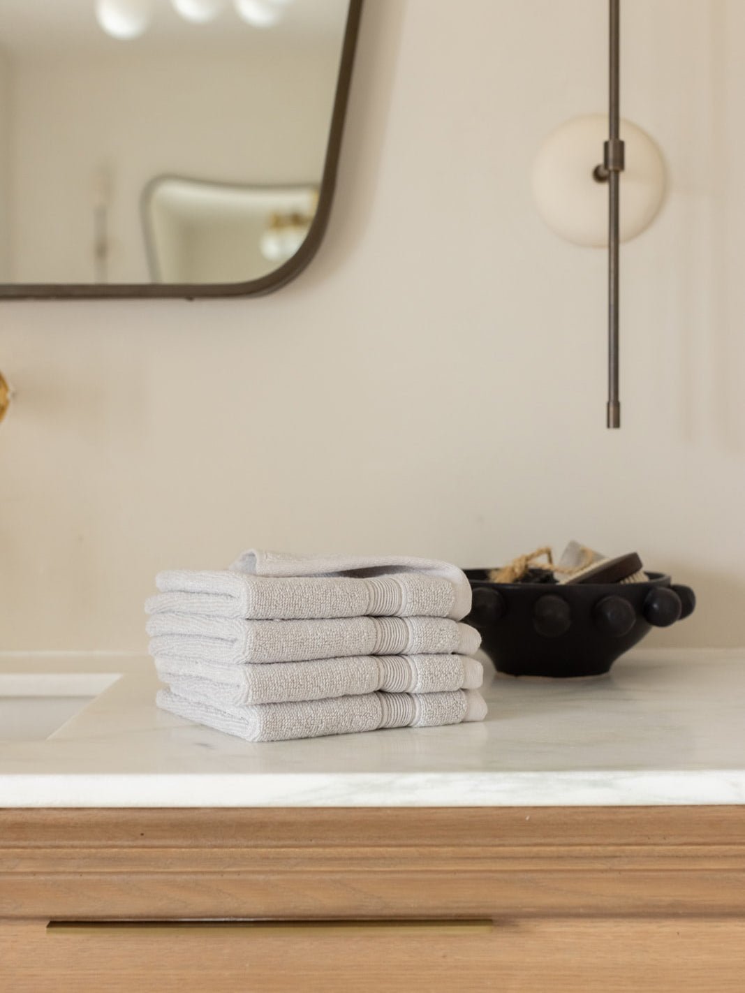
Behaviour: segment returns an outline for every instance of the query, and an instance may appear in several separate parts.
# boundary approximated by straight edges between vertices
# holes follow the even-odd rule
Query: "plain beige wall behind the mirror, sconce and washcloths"
[[[327,240],[255,301],[4,304],[3,647],[144,646],[163,567],[246,545],[495,563],[576,536],[699,593],[658,643],[745,641],[739,0],[626,0],[624,113],[671,189],[605,259],[529,191],[604,106],[597,0],[368,0]]]

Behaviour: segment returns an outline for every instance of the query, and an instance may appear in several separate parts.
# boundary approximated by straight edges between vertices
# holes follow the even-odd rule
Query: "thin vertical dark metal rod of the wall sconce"
[[[608,177],[608,406],[607,426],[621,427],[621,400],[618,385],[618,288],[619,288],[619,202],[621,173],[624,170],[624,143],[620,131],[620,0],[609,6],[609,100],[608,141],[603,146],[603,167]]]

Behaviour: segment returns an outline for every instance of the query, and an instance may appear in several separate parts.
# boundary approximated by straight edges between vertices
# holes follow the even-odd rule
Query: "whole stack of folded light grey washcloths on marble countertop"
[[[407,557],[248,551],[162,572],[146,610],[158,706],[247,741],[480,721],[463,572]]]

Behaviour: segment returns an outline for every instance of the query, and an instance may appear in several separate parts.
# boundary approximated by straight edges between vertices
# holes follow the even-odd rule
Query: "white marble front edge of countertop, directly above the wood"
[[[148,781],[150,780],[150,781]],[[176,781],[174,781],[176,780]],[[415,794],[412,794],[415,790]],[[745,804],[745,772],[0,776],[0,809],[26,807],[709,806]]]

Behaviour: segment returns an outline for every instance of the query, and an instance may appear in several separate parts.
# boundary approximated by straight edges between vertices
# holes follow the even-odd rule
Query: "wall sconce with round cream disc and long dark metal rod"
[[[642,128],[620,117],[619,52],[620,0],[609,0],[608,116],[593,114],[562,124],[540,148],[532,175],[538,212],[552,230],[574,244],[608,246],[609,428],[621,426],[619,244],[652,223],[665,195],[660,149]]]

